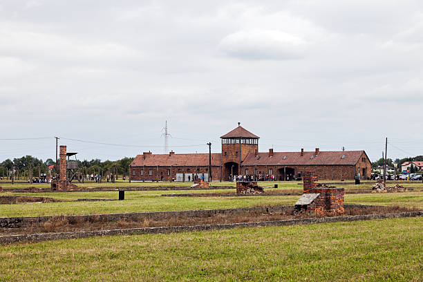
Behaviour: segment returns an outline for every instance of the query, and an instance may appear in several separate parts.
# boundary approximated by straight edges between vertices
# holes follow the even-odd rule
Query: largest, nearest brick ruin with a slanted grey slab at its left
[[[344,214],[344,188],[319,185],[314,171],[306,171],[303,179],[304,192],[295,204],[297,212],[315,216]]]

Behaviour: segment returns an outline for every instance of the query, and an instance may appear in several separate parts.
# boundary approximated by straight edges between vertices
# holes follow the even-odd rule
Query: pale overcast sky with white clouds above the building
[[[259,151],[423,155],[422,63],[422,1],[0,0],[0,162],[163,153],[166,121],[176,153],[241,122]]]

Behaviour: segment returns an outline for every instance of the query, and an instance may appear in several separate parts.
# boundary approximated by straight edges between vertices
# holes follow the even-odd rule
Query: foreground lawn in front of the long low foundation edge
[[[0,246],[0,281],[421,281],[423,219]]]

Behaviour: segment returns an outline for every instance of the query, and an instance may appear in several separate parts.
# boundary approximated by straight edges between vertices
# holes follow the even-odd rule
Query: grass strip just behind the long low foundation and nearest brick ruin
[[[227,191],[227,190],[223,190]],[[231,190],[229,190],[231,191]],[[192,192],[192,191],[188,191]],[[201,191],[196,191],[201,192]],[[187,191],[126,191],[125,200],[113,202],[64,202],[0,205],[0,217],[53,216],[71,214],[107,214],[123,212],[161,212],[188,209],[229,209],[269,205],[294,205],[299,196],[250,197],[163,197],[163,193]],[[117,191],[63,192],[63,193],[3,193],[13,196],[47,196],[64,200],[77,198],[118,198]],[[346,204],[400,205],[423,209],[423,192],[346,194]]]

